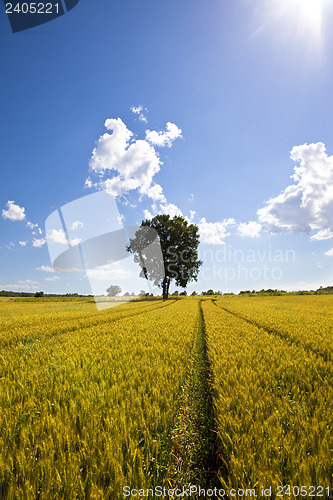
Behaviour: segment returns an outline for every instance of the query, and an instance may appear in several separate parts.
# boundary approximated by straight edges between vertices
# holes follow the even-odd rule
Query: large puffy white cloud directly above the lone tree
[[[133,107],[132,111],[139,114],[143,109]],[[153,203],[144,211],[146,218],[157,213],[182,215],[176,205],[167,202],[162,186],[153,182],[163,165],[154,145],[170,147],[181,137],[177,125],[168,122],[165,131],[147,130],[145,140],[135,139],[120,118],[106,120],[105,127],[108,132],[97,141],[89,162],[91,171],[98,176],[98,184],[93,184],[89,177],[86,186],[105,189],[113,196],[121,196],[126,203],[129,201],[125,195],[130,192],[136,191],[140,201],[143,195],[147,196]]]

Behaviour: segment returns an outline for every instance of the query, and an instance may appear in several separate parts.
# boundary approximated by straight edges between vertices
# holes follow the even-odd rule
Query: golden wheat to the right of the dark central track
[[[285,301],[283,312],[279,312],[281,309],[275,308],[280,297],[267,299],[258,306],[256,299],[245,300],[244,310],[243,299],[230,301],[226,309],[219,307],[224,300],[203,304],[218,394],[220,458],[225,466],[220,480],[229,488],[257,484],[260,488],[272,486],[275,491],[284,484],[328,486],[333,473],[333,368],[324,355],[331,348],[328,323],[323,322],[321,331],[317,319],[313,333],[312,321],[309,330],[306,321],[295,321],[294,333],[285,314],[292,317],[295,310],[300,318],[302,300],[291,302],[289,308]],[[327,307],[326,297],[318,302],[322,299]],[[307,305],[303,314],[309,318],[310,301],[303,300]],[[260,314],[256,307],[260,307]],[[229,310],[259,324],[273,324],[278,333],[257,327]],[[320,333],[327,346],[321,342],[317,350]]]

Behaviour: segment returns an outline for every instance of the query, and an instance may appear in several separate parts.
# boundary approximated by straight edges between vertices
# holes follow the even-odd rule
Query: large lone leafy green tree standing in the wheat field
[[[144,265],[144,244],[147,246],[147,237],[143,230],[137,230],[135,237],[130,239],[128,251],[134,254],[135,262],[141,265],[141,277],[150,279],[155,285],[162,288],[163,300],[169,296],[169,287],[172,280],[177,286],[185,288],[190,281],[197,281],[202,262],[198,258],[199,228],[195,224],[179,215],[173,219],[169,215],[156,215],[151,220],[144,220],[143,228],[152,228],[159,237],[163,254],[164,278],[154,266],[149,270]],[[141,232],[140,232],[141,231]],[[152,231],[152,233],[155,233]]]

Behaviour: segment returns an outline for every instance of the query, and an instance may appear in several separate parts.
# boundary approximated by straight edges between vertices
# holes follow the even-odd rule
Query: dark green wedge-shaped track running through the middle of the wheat
[[[201,302],[191,365],[183,388],[181,407],[172,435],[173,455],[169,480],[174,488],[218,486],[217,441],[213,414],[213,374],[207,356]],[[195,495],[192,495],[195,498]]]

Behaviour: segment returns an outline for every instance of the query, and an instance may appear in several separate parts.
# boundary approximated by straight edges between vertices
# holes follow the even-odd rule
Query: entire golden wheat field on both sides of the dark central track
[[[293,498],[274,491],[332,487],[332,311],[331,296],[157,299],[102,312],[89,300],[2,298],[0,498],[121,499],[125,485],[177,486],[172,436],[180,412],[187,418],[199,337],[221,488]]]

